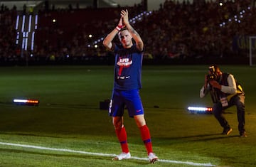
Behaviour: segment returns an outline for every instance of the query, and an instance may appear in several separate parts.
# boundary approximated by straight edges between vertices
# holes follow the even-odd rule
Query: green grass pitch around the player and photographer
[[[188,106],[210,107],[210,96],[199,98],[207,65],[147,66],[141,90],[146,122],[156,154],[154,166],[255,166],[255,73],[248,66],[222,65],[242,83],[246,93],[247,138],[238,136],[235,107],[225,117],[233,127],[230,136],[213,114],[190,114]],[[92,153],[120,153],[112,119],[101,110],[113,85],[112,66],[41,66],[0,68],[0,142],[27,144]],[[14,98],[39,99],[36,106],[12,103]],[[157,106],[157,107],[156,107]],[[134,119],[124,115],[132,156],[146,158]],[[147,161],[111,161],[94,156],[0,144],[0,166],[149,166]],[[177,161],[174,163],[173,161]]]

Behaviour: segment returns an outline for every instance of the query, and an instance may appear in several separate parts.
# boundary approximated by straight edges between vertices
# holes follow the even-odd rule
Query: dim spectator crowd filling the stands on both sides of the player
[[[131,17],[144,9],[142,6],[128,8]],[[98,41],[97,47],[93,42],[112,31],[121,9],[39,11],[33,56],[48,60],[107,57],[110,53],[102,41]],[[234,38],[256,35],[255,11],[251,0],[227,0],[223,6],[215,1],[166,0],[159,10],[143,16],[133,26],[144,40],[144,55],[148,59],[246,56],[241,49],[234,48]],[[14,14],[15,9],[1,9],[0,58],[19,56]]]

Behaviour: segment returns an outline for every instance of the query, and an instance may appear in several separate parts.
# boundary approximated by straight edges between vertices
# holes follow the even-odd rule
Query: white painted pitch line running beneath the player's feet
[[[89,154],[89,155],[94,155],[94,156],[117,156],[114,153],[92,153],[92,152],[87,152],[87,151],[76,151],[76,150],[70,150],[70,149],[56,149],[56,148],[50,148],[50,147],[44,147],[44,146],[33,146],[33,145],[26,145],[26,144],[11,144],[11,143],[6,143],[6,142],[0,142],[1,145],[6,145],[6,146],[19,146],[23,148],[31,148],[31,149],[41,149],[41,150],[50,150],[50,151],[63,151],[63,152],[70,152],[70,153],[82,153],[82,154]],[[148,158],[139,158],[136,156],[132,156],[132,159],[137,159],[137,160],[144,160],[144,161],[149,161]],[[211,163],[193,163],[189,161],[173,161],[173,160],[166,160],[166,159],[159,159],[159,162],[165,162],[165,163],[178,163],[178,164],[187,164],[191,166],[215,166]]]

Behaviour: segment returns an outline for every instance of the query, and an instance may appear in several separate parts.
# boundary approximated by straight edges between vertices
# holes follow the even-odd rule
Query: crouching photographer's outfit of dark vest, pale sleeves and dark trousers
[[[222,73],[217,82],[221,85],[221,90],[211,87],[208,83],[206,89],[204,86],[201,88],[200,97],[205,97],[210,92],[213,99],[213,114],[223,129],[230,129],[223,112],[229,107],[236,106],[238,130],[241,135],[245,133],[245,93],[231,74]]]

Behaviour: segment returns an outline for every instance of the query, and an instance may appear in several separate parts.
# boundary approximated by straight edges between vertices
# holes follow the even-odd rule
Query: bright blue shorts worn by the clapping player
[[[139,90],[113,90],[109,115],[112,117],[122,117],[125,108],[128,110],[129,117],[144,114]]]

